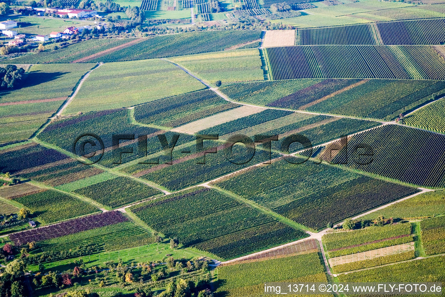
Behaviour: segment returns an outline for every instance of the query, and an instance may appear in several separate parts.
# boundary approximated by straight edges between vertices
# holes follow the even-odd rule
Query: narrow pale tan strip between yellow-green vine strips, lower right
[[[377,248],[366,252],[357,252],[355,254],[338,256],[329,259],[331,267],[341,264],[352,263],[362,260],[372,260],[378,257],[400,254],[403,252],[414,251],[414,242],[398,244],[386,248]]]

